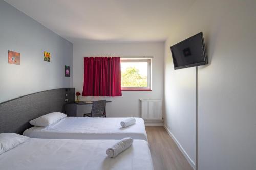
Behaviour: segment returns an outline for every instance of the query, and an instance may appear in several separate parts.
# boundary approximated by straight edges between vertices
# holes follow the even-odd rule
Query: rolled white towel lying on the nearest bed
[[[129,148],[133,144],[133,139],[130,137],[126,137],[118,141],[116,144],[114,144],[112,147],[108,148],[106,150],[106,155],[109,158],[115,158],[117,155],[119,155],[121,152]]]

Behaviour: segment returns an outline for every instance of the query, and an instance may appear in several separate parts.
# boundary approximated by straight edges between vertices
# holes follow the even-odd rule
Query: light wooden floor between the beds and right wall
[[[146,127],[155,170],[193,170],[164,127]]]

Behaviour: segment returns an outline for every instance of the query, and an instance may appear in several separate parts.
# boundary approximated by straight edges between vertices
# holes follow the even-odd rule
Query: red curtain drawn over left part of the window
[[[121,96],[120,57],[84,57],[83,96]]]

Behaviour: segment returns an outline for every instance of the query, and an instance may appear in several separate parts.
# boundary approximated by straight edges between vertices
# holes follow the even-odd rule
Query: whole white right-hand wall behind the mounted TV
[[[201,31],[205,37],[209,65],[198,70],[200,170],[256,169],[255,9],[255,1],[196,1],[166,41],[165,123],[195,161],[195,68],[174,71],[169,47]]]

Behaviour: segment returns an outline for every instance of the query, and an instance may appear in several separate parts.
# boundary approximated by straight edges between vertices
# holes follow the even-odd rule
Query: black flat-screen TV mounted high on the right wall
[[[170,47],[174,69],[207,64],[203,33],[198,33]]]

